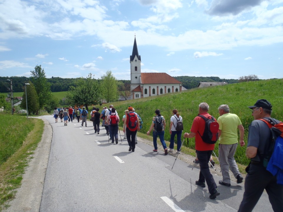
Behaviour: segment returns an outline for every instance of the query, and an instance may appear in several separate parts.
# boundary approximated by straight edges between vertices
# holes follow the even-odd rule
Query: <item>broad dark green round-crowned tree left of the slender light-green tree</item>
[[[101,86],[97,80],[92,78],[92,74],[90,73],[86,79],[79,78],[75,87],[70,87],[65,101],[69,105],[85,105],[88,110],[88,105],[101,103],[101,95]]]

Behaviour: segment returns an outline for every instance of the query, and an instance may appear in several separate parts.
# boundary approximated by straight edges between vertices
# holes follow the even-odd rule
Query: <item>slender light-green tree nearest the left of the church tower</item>
[[[117,89],[117,80],[112,74],[111,71],[107,71],[106,74],[104,74],[101,77],[101,85],[103,89],[103,99],[105,99],[107,102],[111,101],[117,101],[118,100],[118,89]]]

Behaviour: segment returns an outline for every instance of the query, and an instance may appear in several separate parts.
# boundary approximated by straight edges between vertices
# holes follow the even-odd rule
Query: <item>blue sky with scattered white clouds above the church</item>
[[[0,0],[0,76],[283,78],[283,0]]]

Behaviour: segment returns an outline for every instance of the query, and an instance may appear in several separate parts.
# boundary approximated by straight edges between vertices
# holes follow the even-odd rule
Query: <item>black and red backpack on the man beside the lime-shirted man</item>
[[[206,118],[203,115],[198,115],[198,116],[203,118],[203,120],[205,121],[205,128],[204,128],[203,136],[201,136],[200,132],[198,132],[201,139],[205,143],[215,144],[218,139],[219,124],[215,121],[215,118],[213,116],[209,116],[211,117],[211,119]]]

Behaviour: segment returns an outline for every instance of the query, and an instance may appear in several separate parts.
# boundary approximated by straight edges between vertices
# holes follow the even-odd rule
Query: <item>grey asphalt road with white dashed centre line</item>
[[[129,152],[126,140],[108,143],[105,128],[94,134],[74,121],[64,126],[52,116],[52,143],[40,212],[56,211],[237,211],[244,185],[218,186],[221,193],[209,199],[208,188],[195,185],[199,169],[164,155],[163,150],[138,142]],[[215,175],[215,182],[222,178]],[[20,198],[20,197],[17,197]],[[264,193],[254,211],[272,211]]]

